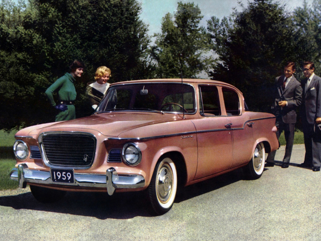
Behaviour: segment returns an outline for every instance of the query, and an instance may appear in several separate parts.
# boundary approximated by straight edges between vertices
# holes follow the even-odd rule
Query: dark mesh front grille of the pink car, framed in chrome
[[[87,133],[43,134],[41,145],[50,165],[88,167],[95,157],[96,138]]]

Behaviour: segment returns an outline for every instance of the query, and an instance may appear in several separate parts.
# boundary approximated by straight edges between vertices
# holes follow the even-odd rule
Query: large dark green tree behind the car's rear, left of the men
[[[218,55],[209,75],[235,85],[251,110],[270,110],[274,80],[287,61],[296,61],[296,33],[285,6],[254,0],[243,11],[208,21]]]

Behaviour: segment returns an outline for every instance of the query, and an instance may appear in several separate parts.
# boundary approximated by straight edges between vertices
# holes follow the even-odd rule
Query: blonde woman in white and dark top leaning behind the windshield
[[[95,73],[95,82],[87,83],[86,93],[88,95],[91,107],[95,110],[100,103],[104,95],[106,94],[109,83],[108,80],[111,77],[111,71],[106,66],[100,66]]]

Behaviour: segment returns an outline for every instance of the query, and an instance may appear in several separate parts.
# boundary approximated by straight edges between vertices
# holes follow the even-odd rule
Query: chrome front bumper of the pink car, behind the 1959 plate
[[[107,187],[109,195],[112,195],[116,188],[140,188],[145,185],[142,175],[118,175],[113,167],[106,171],[106,175],[74,173],[74,183],[57,183],[51,180],[49,171],[30,170],[26,164],[20,164],[18,168],[11,170],[10,178],[18,181],[20,188],[25,188],[27,183]]]

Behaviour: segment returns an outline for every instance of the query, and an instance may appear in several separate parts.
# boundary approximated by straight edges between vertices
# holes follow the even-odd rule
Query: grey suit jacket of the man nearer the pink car
[[[282,90],[283,80],[285,76],[279,76],[275,79],[275,100],[272,106],[274,115],[281,116],[282,121],[286,124],[294,124],[297,121],[296,109],[302,102],[302,87],[300,82],[292,76],[290,82]],[[287,101],[285,107],[280,107],[279,101]]]

